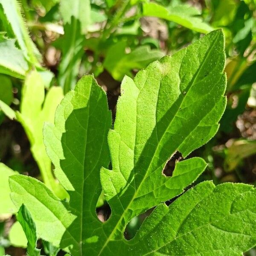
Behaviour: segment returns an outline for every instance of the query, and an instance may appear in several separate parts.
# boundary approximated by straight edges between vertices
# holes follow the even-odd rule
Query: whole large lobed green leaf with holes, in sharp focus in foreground
[[[125,77],[109,133],[106,95],[92,76],[84,76],[58,107],[55,125],[44,128],[47,153],[70,201],[60,201],[32,177],[10,178],[12,199],[29,209],[38,235],[73,256],[239,255],[256,244],[251,186],[201,183],[170,207],[162,204],[206,167],[194,157],[177,162],[172,177],[162,174],[176,151],[186,157],[217,131],[226,104],[224,64],[224,38],[217,30],[153,62],[134,80]],[[107,133],[112,170],[106,169]],[[99,178],[111,207],[105,223],[95,211]],[[126,241],[131,218],[154,206]]]

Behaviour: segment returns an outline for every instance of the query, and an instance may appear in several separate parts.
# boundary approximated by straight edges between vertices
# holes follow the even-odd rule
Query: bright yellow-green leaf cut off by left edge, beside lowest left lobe
[[[9,187],[9,177],[15,175],[12,169],[0,163],[0,215],[12,215],[16,212],[16,207],[10,198],[11,189]]]

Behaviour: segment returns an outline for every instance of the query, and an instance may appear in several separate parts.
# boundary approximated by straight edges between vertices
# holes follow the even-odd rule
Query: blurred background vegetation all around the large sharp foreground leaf
[[[256,185],[255,18],[256,0],[0,0],[0,161],[15,172],[43,180],[64,198],[41,132],[44,121],[53,122],[63,94],[81,76],[93,73],[107,93],[114,117],[123,76],[134,77],[152,61],[222,28],[227,109],[215,137],[191,156],[208,163],[197,183]],[[36,75],[29,75],[32,70]],[[38,80],[41,86],[35,87]],[[19,112],[10,112],[8,106]],[[166,175],[172,175],[180,158],[177,153],[169,160]],[[6,166],[0,165],[3,197],[13,173]],[[97,212],[102,221],[108,218],[104,198]],[[131,221],[128,239],[143,218]],[[40,243],[45,254],[56,255],[48,244]],[[15,216],[0,206],[0,256],[25,255],[24,247],[26,238]],[[246,255],[256,255],[256,250]]]

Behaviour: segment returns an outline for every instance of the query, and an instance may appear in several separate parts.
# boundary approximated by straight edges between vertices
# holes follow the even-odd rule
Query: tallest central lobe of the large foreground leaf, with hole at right
[[[176,151],[186,157],[218,130],[226,105],[224,60],[223,34],[216,30],[153,62],[134,81],[123,79],[114,129],[108,135],[113,170],[101,170],[112,209],[104,228],[107,238],[99,239],[103,255],[110,253],[112,240],[121,239],[131,218],[180,194],[197,177],[195,166],[199,173],[204,170],[204,161],[192,158],[180,163],[187,164],[180,168],[186,178],[178,176],[183,182],[172,183],[162,175]]]

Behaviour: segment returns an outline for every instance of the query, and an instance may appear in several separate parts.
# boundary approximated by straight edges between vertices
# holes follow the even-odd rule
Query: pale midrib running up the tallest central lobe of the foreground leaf
[[[205,55],[205,57],[204,57],[204,60],[202,61],[200,67],[198,68],[198,71],[196,72],[195,76],[192,78],[192,80],[191,80],[191,82],[190,82],[190,85],[189,85],[189,89],[192,87],[192,85],[194,84],[195,80],[197,79],[198,73],[200,72],[201,68],[204,66],[204,62],[206,61],[207,57],[209,56],[209,52],[211,52],[211,50],[213,49],[213,46],[215,45],[215,42],[217,41],[217,39],[218,39],[218,35],[215,37],[213,43],[212,43],[211,46],[209,47],[209,50],[207,51],[207,53],[206,53],[206,55]],[[185,49],[186,49],[186,48],[185,48]],[[188,91],[189,91],[189,89],[188,89]],[[187,95],[187,93],[186,93],[186,95]],[[184,99],[185,99],[186,95],[184,96]],[[183,101],[182,101],[182,102],[183,102]],[[182,104],[182,102],[180,103],[180,105]],[[176,113],[174,114],[174,116],[173,116],[172,120],[170,121],[169,125],[167,126],[165,132],[163,133],[162,137],[160,138],[160,141],[161,141],[162,138],[164,137],[164,134],[166,134],[166,131],[168,130],[170,124],[172,123],[172,121],[173,121],[173,119],[174,119],[174,117],[176,116],[176,114],[177,114],[178,111],[179,111],[179,108],[177,108]],[[158,143],[155,152],[157,151],[159,145],[160,145],[160,143]],[[153,162],[153,158],[154,158],[154,156],[151,158],[151,162],[149,163],[149,166],[148,166],[147,170],[150,168],[150,166],[151,166],[151,164],[152,164],[152,162]],[[119,226],[120,221],[122,221],[122,218],[125,216],[127,209],[129,209],[129,207],[131,206],[132,202],[133,202],[134,199],[136,198],[137,192],[139,191],[140,186],[141,186],[141,184],[143,183],[143,180],[145,180],[146,177],[147,177],[147,176],[145,175],[145,176],[143,177],[143,179],[141,180],[140,185],[138,186],[136,192],[134,193],[133,198],[131,199],[131,201],[130,201],[130,203],[128,204],[128,206],[125,208],[125,210],[124,210],[123,214],[120,216],[119,220],[116,222],[115,227],[113,228],[113,230],[112,230],[111,234],[109,235],[108,239],[106,240],[105,244],[102,246],[102,249],[99,251],[98,256],[103,252],[104,248],[107,246],[108,242],[111,240],[111,237],[113,236],[113,233],[116,231],[116,228]]]

